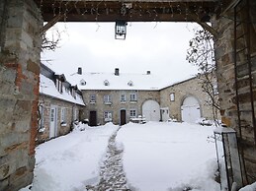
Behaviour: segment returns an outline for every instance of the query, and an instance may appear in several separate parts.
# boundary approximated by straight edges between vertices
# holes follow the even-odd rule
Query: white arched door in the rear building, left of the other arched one
[[[142,114],[146,121],[160,120],[160,105],[155,100],[146,100],[142,105]]]

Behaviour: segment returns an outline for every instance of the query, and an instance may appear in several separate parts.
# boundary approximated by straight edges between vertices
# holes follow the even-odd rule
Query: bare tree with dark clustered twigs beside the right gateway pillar
[[[218,124],[219,102],[215,76],[215,61],[213,49],[213,34],[204,29],[194,30],[195,37],[190,40],[187,50],[187,60],[199,68],[199,78],[203,92],[210,98],[208,104],[212,106],[213,120]]]

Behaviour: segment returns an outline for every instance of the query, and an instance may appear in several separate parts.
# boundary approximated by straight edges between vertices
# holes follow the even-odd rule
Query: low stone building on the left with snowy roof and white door
[[[40,121],[37,143],[65,135],[85,106],[81,92],[72,86],[64,75],[57,75],[41,64],[40,76]]]

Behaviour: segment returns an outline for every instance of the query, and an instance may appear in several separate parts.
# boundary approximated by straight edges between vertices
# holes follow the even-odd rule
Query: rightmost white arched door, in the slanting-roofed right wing
[[[195,96],[187,96],[181,105],[182,121],[195,123],[201,117],[199,100]]]

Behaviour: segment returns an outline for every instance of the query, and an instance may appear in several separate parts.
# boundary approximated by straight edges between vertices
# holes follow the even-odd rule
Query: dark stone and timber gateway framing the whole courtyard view
[[[41,32],[58,21],[197,22],[213,32],[221,120],[238,137],[243,177],[239,187],[256,181],[255,4],[255,0],[92,1],[98,15],[87,10],[83,0],[0,1],[0,190],[15,191],[32,182]],[[44,27],[43,21],[48,22]]]

